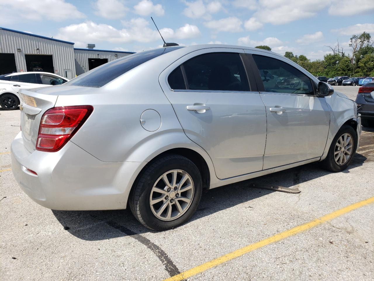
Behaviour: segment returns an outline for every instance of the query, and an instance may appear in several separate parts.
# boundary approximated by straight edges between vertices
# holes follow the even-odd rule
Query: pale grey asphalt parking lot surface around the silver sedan
[[[334,88],[353,100],[358,91]],[[34,203],[10,170],[19,115],[0,109],[0,280],[374,280],[372,129],[344,172],[311,163],[218,187],[187,224],[153,232],[129,210]]]

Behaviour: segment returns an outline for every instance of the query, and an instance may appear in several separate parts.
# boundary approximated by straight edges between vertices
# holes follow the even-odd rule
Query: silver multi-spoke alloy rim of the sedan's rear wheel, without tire
[[[193,180],[186,171],[163,173],[151,189],[149,202],[153,214],[163,221],[181,217],[192,203],[194,189]]]

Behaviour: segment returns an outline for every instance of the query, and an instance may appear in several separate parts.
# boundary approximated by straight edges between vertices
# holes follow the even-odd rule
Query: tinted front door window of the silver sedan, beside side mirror
[[[284,61],[252,55],[266,92],[313,95],[310,78]]]

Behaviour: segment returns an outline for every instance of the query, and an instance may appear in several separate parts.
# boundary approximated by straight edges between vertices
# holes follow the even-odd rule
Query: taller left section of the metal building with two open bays
[[[0,75],[22,71],[73,78],[74,43],[0,27]]]

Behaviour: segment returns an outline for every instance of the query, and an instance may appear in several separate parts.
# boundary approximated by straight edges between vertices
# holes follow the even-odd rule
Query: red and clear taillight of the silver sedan
[[[85,123],[92,111],[91,105],[48,109],[40,120],[36,150],[55,152],[61,149]]]

